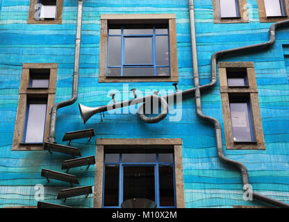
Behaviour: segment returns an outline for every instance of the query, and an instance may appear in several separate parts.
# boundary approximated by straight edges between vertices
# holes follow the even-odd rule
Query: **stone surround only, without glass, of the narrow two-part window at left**
[[[30,75],[30,69],[50,69],[49,87],[40,88],[28,88]],[[15,119],[15,128],[13,135],[13,151],[38,151],[44,150],[43,144],[48,141],[49,136],[49,123],[50,123],[50,111],[54,104],[56,94],[56,80],[57,80],[58,64],[57,63],[24,63],[22,65],[22,76],[19,88],[19,97],[17,105],[17,114]],[[44,142],[41,144],[24,144],[24,127],[26,121],[26,109],[28,97],[43,97],[47,96],[47,113],[44,129]]]

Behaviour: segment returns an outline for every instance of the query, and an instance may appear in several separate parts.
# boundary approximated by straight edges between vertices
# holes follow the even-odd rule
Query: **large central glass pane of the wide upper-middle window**
[[[151,37],[126,37],[124,41],[126,64],[152,64]]]

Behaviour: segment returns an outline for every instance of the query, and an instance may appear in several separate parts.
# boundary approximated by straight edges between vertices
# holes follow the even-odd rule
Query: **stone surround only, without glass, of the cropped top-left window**
[[[37,9],[35,9],[35,5],[37,3],[38,3],[38,0],[30,0],[27,24],[62,24],[63,0],[56,0],[56,17],[55,19],[49,19],[49,20],[36,20],[34,18],[35,12],[37,12]]]

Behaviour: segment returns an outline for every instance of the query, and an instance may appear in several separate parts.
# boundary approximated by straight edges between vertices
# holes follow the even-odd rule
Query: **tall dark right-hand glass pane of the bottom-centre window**
[[[160,178],[160,206],[174,206],[174,172],[172,166],[158,167]]]

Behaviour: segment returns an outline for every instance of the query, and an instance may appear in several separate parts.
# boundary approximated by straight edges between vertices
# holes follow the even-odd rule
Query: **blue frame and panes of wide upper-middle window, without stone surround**
[[[168,24],[108,26],[107,77],[170,77]]]

